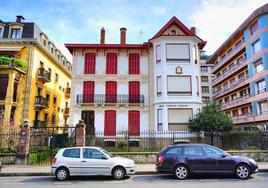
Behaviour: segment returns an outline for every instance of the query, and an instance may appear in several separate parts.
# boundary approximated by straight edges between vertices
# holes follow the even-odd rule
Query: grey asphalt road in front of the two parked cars
[[[76,177],[58,182],[54,177],[0,177],[0,188],[267,188],[268,173],[254,174],[248,180],[239,180],[230,176],[195,176],[189,180],[178,181],[169,175],[131,176],[122,181],[109,177]]]

